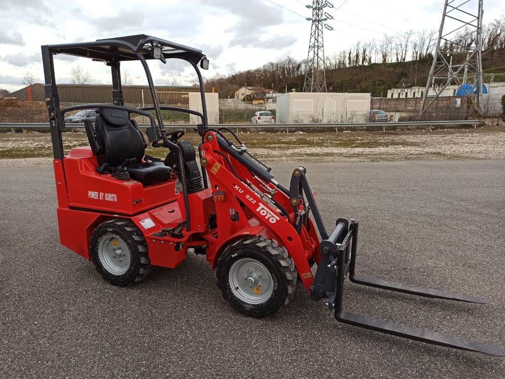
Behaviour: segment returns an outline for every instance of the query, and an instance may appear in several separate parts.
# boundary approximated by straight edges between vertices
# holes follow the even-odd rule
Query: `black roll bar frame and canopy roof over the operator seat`
[[[96,106],[99,106],[101,108],[114,107],[114,109],[123,109],[129,113],[132,113],[133,110],[124,106],[125,101],[121,85],[120,65],[123,61],[140,61],[142,67],[144,68],[147,83],[149,85],[149,91],[151,92],[151,97],[153,98],[154,107],[151,109],[155,111],[156,118],[158,119],[158,125],[154,125],[154,118],[150,118],[151,127],[154,128],[154,133],[149,133],[149,141],[153,143],[153,146],[159,146],[157,144],[158,141],[154,141],[154,139],[159,138],[159,140],[163,140],[163,146],[174,149],[176,151],[181,167],[182,153],[180,151],[180,148],[176,144],[172,143],[166,136],[153,77],[151,76],[146,60],[161,60],[163,63],[166,63],[167,59],[182,59],[184,61],[187,61],[191,64],[191,66],[193,66],[198,77],[202,112],[200,114],[198,112],[193,112],[188,109],[178,107],[173,107],[173,110],[197,114],[202,119],[202,123],[198,125],[198,133],[200,135],[203,135],[205,133],[205,130],[209,127],[209,122],[207,119],[207,105],[205,101],[204,79],[201,76],[200,70],[198,68],[199,63],[202,68],[208,69],[209,61],[207,60],[207,57],[204,55],[204,53],[202,53],[200,50],[189,48],[188,46],[145,34],[97,39],[94,42],[42,45],[41,50],[45,79],[45,105],[49,113],[51,139],[53,142],[53,154],[54,158],[57,160],[64,159],[62,139],[62,130],[65,128],[64,114],[71,109],[79,108],[70,107],[63,110],[60,109],[60,98],[58,95],[58,87],[56,85],[55,66],[53,60],[53,57],[58,54],[67,54],[76,57],[89,58],[93,61],[104,62],[110,66],[112,75],[113,106],[98,104]],[[137,110],[135,112],[140,114],[146,113],[144,110]],[[181,184],[184,188],[184,208],[187,215],[187,230],[189,231],[191,227],[190,211],[184,170],[181,170],[180,175]]]

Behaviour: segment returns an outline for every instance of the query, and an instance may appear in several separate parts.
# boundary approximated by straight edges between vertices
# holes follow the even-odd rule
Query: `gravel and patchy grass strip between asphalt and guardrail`
[[[238,135],[252,154],[273,163],[505,158],[503,127]],[[66,151],[88,145],[86,135],[81,132],[64,133],[63,137]],[[195,145],[199,142],[195,133],[188,133],[184,138]],[[163,157],[166,150],[148,148],[147,154]],[[0,167],[49,165],[51,156],[48,133],[0,134]]]

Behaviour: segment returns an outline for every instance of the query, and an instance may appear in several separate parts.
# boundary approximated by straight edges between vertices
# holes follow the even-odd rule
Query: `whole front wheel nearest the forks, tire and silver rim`
[[[249,236],[231,245],[216,271],[223,297],[250,316],[279,312],[291,299],[296,270],[286,249],[264,236]]]

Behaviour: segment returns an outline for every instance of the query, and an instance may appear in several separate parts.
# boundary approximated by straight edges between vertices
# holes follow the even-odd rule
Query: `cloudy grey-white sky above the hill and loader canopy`
[[[456,0],[462,3],[463,0]],[[3,0],[0,5],[0,87],[16,90],[32,73],[42,82],[40,45],[150,34],[204,51],[211,69],[204,74],[228,74],[291,56],[304,59],[311,11],[304,0]],[[273,4],[275,3],[275,4]],[[325,30],[326,54],[348,49],[356,41],[380,39],[384,33],[408,29],[438,29],[443,0],[332,0],[327,9],[333,31]],[[469,5],[477,3],[470,0]],[[342,5],[343,4],[343,5]],[[340,6],[339,10],[335,9]],[[502,0],[486,0],[484,23],[505,11]],[[120,8],[116,8],[120,7]],[[284,8],[282,8],[284,7]],[[176,78],[190,85],[188,64],[174,60],[151,62],[156,82]],[[57,77],[70,81],[72,66],[80,64],[92,83],[110,83],[103,63],[58,56]],[[146,84],[139,62],[123,64],[134,84]]]

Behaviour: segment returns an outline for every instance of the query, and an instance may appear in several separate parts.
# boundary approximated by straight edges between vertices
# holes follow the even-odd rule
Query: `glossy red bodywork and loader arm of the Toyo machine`
[[[135,180],[100,174],[95,170],[98,162],[90,148],[72,149],[63,161],[55,160],[61,243],[90,259],[89,241],[97,225],[111,217],[128,218],[144,234],[151,264],[177,267],[191,247],[205,249],[214,269],[221,253],[236,239],[264,235],[286,248],[309,290],[313,282],[309,261],[320,260],[319,239],[312,221],[298,234],[292,226],[294,213],[289,198],[227,155],[245,183],[237,179],[223,157],[213,152],[220,151],[220,147],[212,135],[214,138],[206,139],[202,147],[211,188],[188,196],[191,225],[189,231],[183,229],[182,236],[170,231],[187,219],[184,198],[175,191],[175,178],[143,186]],[[258,193],[271,194],[289,211],[288,216],[281,216]],[[212,215],[216,215],[217,229],[210,229]]]

